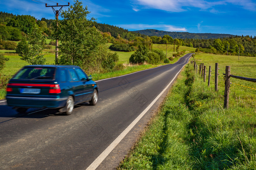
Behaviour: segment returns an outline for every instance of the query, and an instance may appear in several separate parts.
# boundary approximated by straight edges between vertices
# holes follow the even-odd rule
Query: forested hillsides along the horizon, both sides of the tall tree
[[[53,38],[52,19],[35,19],[30,15],[14,15],[12,13],[0,12],[0,39],[19,41],[31,32],[31,28],[37,24],[42,30],[42,34],[47,39]],[[91,27],[101,31],[109,43],[127,44],[129,47],[144,44],[149,47],[153,44],[175,44],[200,48],[200,51],[213,54],[245,55],[256,56],[256,37],[234,36],[231,34],[216,33],[188,33],[188,32],[167,32],[156,29],[146,29],[139,31],[128,31],[114,25],[93,23]],[[115,46],[116,47],[116,46]],[[127,46],[128,47],[128,46]],[[128,47],[128,48],[129,48]],[[178,51],[178,47],[177,51]],[[0,49],[14,49],[15,43],[0,42]],[[120,47],[118,47],[120,48]],[[240,49],[240,50],[239,50]],[[117,50],[117,49],[116,49]],[[127,50],[126,48],[122,50]]]

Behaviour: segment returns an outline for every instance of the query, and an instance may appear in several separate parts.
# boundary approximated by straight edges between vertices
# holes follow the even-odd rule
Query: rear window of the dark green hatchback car
[[[13,79],[44,79],[54,80],[56,68],[47,67],[25,67],[20,70]]]

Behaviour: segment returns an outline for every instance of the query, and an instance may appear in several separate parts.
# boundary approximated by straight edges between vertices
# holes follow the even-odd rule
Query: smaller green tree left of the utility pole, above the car
[[[34,25],[32,32],[27,35],[28,43],[23,39],[18,43],[16,52],[21,56],[21,60],[25,60],[30,65],[44,64],[45,54],[42,54],[45,45],[45,38],[37,24]]]

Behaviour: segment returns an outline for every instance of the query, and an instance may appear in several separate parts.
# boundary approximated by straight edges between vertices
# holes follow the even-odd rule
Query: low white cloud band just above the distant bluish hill
[[[129,29],[129,30],[140,30],[140,29],[158,29],[162,31],[177,31],[177,32],[185,32],[186,28],[176,27],[173,25],[166,24],[120,24],[118,27]]]

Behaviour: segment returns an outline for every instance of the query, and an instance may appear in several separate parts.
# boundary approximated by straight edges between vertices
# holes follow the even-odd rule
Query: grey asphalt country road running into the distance
[[[50,109],[18,114],[1,100],[0,169],[86,169],[163,91],[191,55],[175,64],[98,81],[97,105],[79,104],[69,116]]]

